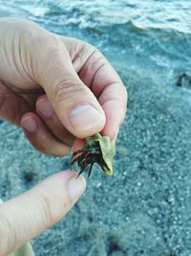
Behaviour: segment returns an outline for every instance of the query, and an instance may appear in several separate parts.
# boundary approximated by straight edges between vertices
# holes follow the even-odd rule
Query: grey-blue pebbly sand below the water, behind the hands
[[[32,240],[36,256],[170,256],[191,253],[189,90],[120,68],[129,91],[115,175],[97,167],[67,217]],[[0,124],[0,195],[6,200],[70,157],[35,151],[19,128]]]

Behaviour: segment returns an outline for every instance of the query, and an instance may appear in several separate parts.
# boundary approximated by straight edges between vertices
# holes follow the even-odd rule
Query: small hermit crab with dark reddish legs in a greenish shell
[[[113,175],[113,160],[116,154],[114,142],[109,137],[96,133],[94,136],[85,139],[85,145],[72,155],[71,165],[76,162],[80,168],[79,175],[88,171],[92,174],[93,165],[97,163],[107,175]]]

